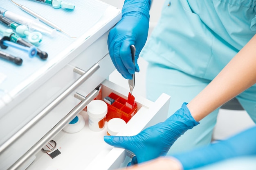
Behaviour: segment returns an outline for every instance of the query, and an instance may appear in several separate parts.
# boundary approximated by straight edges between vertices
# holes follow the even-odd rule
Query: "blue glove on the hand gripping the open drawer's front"
[[[182,108],[166,121],[150,126],[138,135],[105,136],[104,140],[112,146],[132,151],[137,157],[137,162],[141,163],[166,155],[177,138],[197,124],[186,103],[183,103]]]

